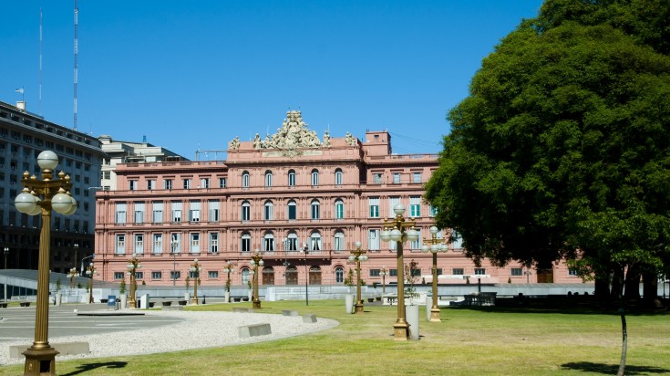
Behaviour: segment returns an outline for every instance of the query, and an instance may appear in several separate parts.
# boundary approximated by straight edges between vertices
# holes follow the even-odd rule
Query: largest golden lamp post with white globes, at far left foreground
[[[35,341],[24,351],[26,363],[24,375],[55,375],[57,350],[49,346],[49,245],[51,244],[51,210],[69,215],[77,210],[77,200],[69,193],[72,188],[69,175],[54,169],[58,156],[54,151],[42,151],[37,155],[37,164],[42,170],[38,180],[30,172],[24,172],[22,193],[15,198],[16,210],[28,215],[42,215],[39,234],[39,256],[37,262],[37,301],[35,315]]]

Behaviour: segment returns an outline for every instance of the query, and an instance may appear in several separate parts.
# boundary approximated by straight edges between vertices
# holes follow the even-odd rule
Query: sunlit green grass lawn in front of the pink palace
[[[251,303],[205,305],[232,310]],[[346,315],[344,301],[263,302],[263,313],[336,319],[335,329],[221,349],[58,361],[59,375],[611,375],[621,356],[619,316],[586,309],[443,308],[417,341],[393,339],[396,307]],[[670,315],[631,314],[627,375],[670,374]],[[193,339],[197,341],[197,339]],[[23,364],[0,367],[22,374]]]

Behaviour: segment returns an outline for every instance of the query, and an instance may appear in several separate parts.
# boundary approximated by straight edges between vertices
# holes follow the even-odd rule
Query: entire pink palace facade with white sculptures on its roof
[[[135,255],[139,284],[183,287],[197,258],[201,286],[223,286],[227,262],[232,285],[246,285],[258,249],[263,285],[304,285],[305,278],[343,285],[356,271],[348,256],[360,241],[369,256],[361,278],[381,286],[397,281],[395,246],[379,235],[401,203],[420,234],[404,245],[405,263],[415,263],[415,283],[430,282],[432,255],[421,245],[436,209],[422,196],[437,168],[434,154],[393,154],[386,131],[368,131],[365,141],[327,132],[319,139],[300,111],[289,111],[264,140],[231,141],[226,161],[119,164],[117,190],[96,196],[97,269],[102,280],[120,282]],[[474,266],[459,243],[438,253],[438,275],[440,284],[581,281],[562,263],[540,273]]]

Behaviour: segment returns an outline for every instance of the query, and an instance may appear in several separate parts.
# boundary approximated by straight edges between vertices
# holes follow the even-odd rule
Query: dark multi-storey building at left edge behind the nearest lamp
[[[67,273],[93,255],[95,191],[89,188],[99,185],[100,142],[26,111],[24,102],[0,102],[0,250],[8,249],[7,268],[37,268],[40,216],[18,212],[14,199],[24,172],[40,177],[37,155],[45,150],[57,153],[57,171],[70,175],[78,203],[74,214],[51,218],[50,269]]]

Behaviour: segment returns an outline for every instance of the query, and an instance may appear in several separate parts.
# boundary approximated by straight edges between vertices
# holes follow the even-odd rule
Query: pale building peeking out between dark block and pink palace
[[[106,191],[114,191],[117,187],[116,166],[119,163],[129,162],[163,162],[163,161],[188,161],[179,154],[169,151],[160,146],[155,146],[143,140],[142,142],[117,141],[111,136],[102,135],[98,137],[105,152],[102,162],[102,175],[100,187]]]

